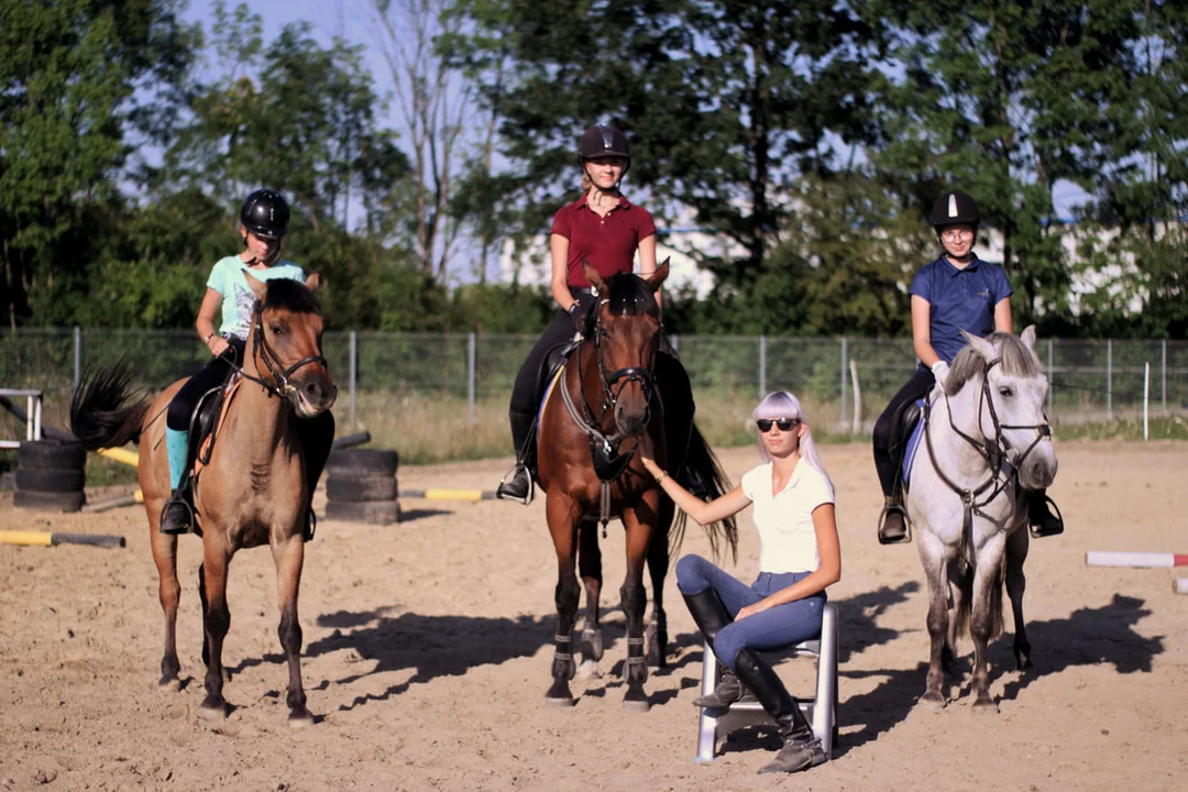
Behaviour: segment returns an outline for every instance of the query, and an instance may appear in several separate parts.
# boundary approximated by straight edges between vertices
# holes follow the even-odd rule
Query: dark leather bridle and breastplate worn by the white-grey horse
[[[948,413],[949,427],[966,443],[973,446],[978,455],[986,461],[990,467],[990,475],[985,481],[973,488],[965,488],[953,481],[941,465],[936,461],[936,451],[933,448],[933,433],[931,429],[931,400],[924,399],[924,441],[928,446],[928,456],[933,462],[933,469],[936,470],[936,475],[944,482],[944,484],[956,493],[961,498],[961,503],[963,506],[963,520],[962,520],[962,546],[966,549],[967,553],[972,553],[971,543],[968,541],[971,533],[973,531],[973,515],[985,517],[984,507],[991,501],[999,496],[1011,483],[1018,488],[1019,484],[1019,468],[1023,467],[1023,461],[1026,460],[1028,455],[1038,445],[1040,441],[1045,437],[1051,437],[1051,424],[1045,419],[1040,424],[1003,424],[998,420],[998,413],[994,411],[994,399],[990,393],[990,369],[1001,362],[1000,357],[986,361],[981,369],[981,389],[978,394],[978,425],[981,426],[981,414],[982,408],[987,408],[990,412],[991,423],[994,425],[994,437],[993,442],[991,439],[979,441],[971,437],[966,432],[961,431],[956,424],[953,423],[953,410],[949,405],[949,394],[947,389],[942,389],[944,394],[944,406]],[[1047,417],[1045,417],[1047,418]],[[1036,438],[1031,441],[1031,444],[1026,446],[1023,454],[1011,458],[1011,451],[1013,450],[1010,442],[1003,435],[1004,430],[1016,430],[1016,429],[1034,429],[1036,430]],[[993,488],[993,489],[991,489]],[[991,490],[988,495],[984,495],[986,490]],[[979,498],[981,500],[979,500]],[[967,557],[967,563],[972,564],[972,555]]]

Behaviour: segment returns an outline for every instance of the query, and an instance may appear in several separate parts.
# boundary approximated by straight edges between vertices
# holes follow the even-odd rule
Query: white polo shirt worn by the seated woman
[[[801,460],[782,490],[771,493],[771,463],[742,476],[742,494],[754,503],[760,572],[811,572],[821,565],[813,509],[833,503],[833,486]]]

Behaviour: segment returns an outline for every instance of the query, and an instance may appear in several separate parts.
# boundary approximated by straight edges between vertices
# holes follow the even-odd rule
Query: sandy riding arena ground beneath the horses
[[[672,653],[652,708],[625,712],[618,610],[621,530],[604,543],[607,653],[576,679],[573,709],[545,707],[554,633],[552,546],[543,500],[404,502],[377,527],[323,520],[308,546],[301,619],[317,724],[285,723],[273,570],[265,550],[230,571],[228,720],[203,697],[195,591],[200,543],[183,540],[181,691],[157,688],[163,617],[140,507],[46,515],[0,501],[0,528],[115,533],[124,550],[0,546],[0,787],[119,790],[1173,790],[1188,777],[1188,597],[1173,570],[1087,569],[1086,550],[1188,552],[1188,445],[1063,443],[1053,495],[1063,537],[1035,541],[1026,614],[1035,670],[992,647],[998,715],[974,715],[968,684],[943,711],[924,689],[925,593],[914,546],[880,547],[864,444],[822,449],[838,486],[843,579],[841,743],[797,777],[756,775],[776,739],[732,737],[693,762],[701,648],[669,577]],[[721,458],[733,481],[753,449]],[[505,461],[402,469],[402,487],[491,488]],[[102,495],[97,493],[96,495]],[[318,496],[320,499],[322,495]],[[321,505],[321,500],[318,503]],[[748,514],[735,572],[750,579]],[[690,526],[684,551],[708,552]],[[1183,572],[1181,572],[1183,574]],[[968,640],[963,652],[971,651]],[[782,667],[810,690],[811,661]],[[795,690],[794,690],[795,692]],[[1180,781],[1175,779],[1180,778]]]

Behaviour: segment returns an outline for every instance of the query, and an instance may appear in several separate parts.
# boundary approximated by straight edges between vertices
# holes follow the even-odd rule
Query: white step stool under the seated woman
[[[838,736],[838,606],[832,602],[826,603],[821,619],[821,638],[815,641],[804,641],[796,646],[778,652],[781,657],[801,657],[809,654],[816,658],[817,684],[816,696],[813,698],[800,698],[801,709],[804,716],[813,724],[813,733],[821,741],[821,748],[826,756],[833,759],[833,746]],[[718,686],[718,658],[707,642],[704,646],[704,659],[701,664],[701,695],[708,696]],[[745,718],[733,717],[740,714],[752,715],[764,714],[759,702],[746,698],[735,702],[725,709],[701,709],[701,717],[697,723],[697,758],[699,765],[714,761],[714,750],[718,743],[718,733],[722,728],[721,721],[729,717],[733,728],[740,726],[739,721]]]

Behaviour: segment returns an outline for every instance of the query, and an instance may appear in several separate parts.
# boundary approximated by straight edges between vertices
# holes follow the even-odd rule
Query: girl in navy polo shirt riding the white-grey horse
[[[921,267],[911,281],[911,340],[920,366],[874,422],[874,467],[884,496],[878,527],[883,544],[908,538],[897,486],[901,461],[890,451],[896,413],[927,397],[936,382],[944,382],[949,363],[965,347],[961,330],[977,336],[1012,331],[1006,273],[973,252],[981,222],[978,203],[959,190],[946,192],[933,204],[931,220],[944,253]],[[1032,498],[1029,518],[1038,536],[1063,530],[1043,493]]]

